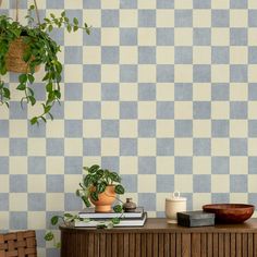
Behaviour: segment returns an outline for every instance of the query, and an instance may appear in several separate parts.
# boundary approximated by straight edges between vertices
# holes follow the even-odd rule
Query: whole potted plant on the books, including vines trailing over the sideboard
[[[117,172],[109,170],[102,170],[98,164],[94,164],[90,168],[84,167],[87,174],[83,178],[83,182],[79,183],[79,187],[76,191],[76,195],[82,198],[86,207],[95,205],[96,211],[110,211],[111,208],[115,212],[121,213],[119,218],[112,218],[110,221],[99,222],[97,229],[112,229],[114,224],[120,223],[123,217],[123,203],[117,197],[117,194],[124,194],[125,189],[121,184],[121,178]],[[119,200],[121,205],[111,205]],[[57,225],[59,221],[66,227],[73,225],[75,220],[90,221],[90,219],[79,218],[77,215],[64,213],[63,216],[53,216],[50,220],[51,225]],[[56,242],[54,234],[49,231],[45,235],[46,241],[53,241],[53,245],[59,248],[60,242]]]

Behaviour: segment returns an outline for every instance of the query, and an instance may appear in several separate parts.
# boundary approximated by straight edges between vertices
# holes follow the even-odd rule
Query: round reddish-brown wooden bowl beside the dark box
[[[217,223],[243,223],[255,211],[255,206],[244,204],[204,205],[203,210],[216,215]]]

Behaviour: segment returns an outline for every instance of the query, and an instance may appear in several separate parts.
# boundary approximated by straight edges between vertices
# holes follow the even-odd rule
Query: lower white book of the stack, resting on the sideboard
[[[121,219],[119,224],[114,224],[115,228],[119,227],[143,227],[146,222],[147,213],[144,212],[142,219]],[[106,220],[88,220],[88,221],[79,221],[75,220],[74,227],[77,228],[96,228],[101,224],[107,224],[110,222],[110,219]]]

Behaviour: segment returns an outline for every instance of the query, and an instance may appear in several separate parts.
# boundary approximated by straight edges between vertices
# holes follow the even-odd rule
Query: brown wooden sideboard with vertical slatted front
[[[183,228],[149,218],[143,228],[60,227],[62,257],[257,257],[257,219]]]

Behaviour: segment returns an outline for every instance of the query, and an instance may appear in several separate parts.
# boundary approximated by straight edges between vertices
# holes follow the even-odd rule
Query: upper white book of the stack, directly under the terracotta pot
[[[144,213],[143,207],[137,207],[133,212],[123,212],[123,218],[142,218]],[[121,217],[121,213],[114,212],[95,212],[95,208],[85,208],[78,212],[78,217],[82,219],[112,219]]]

